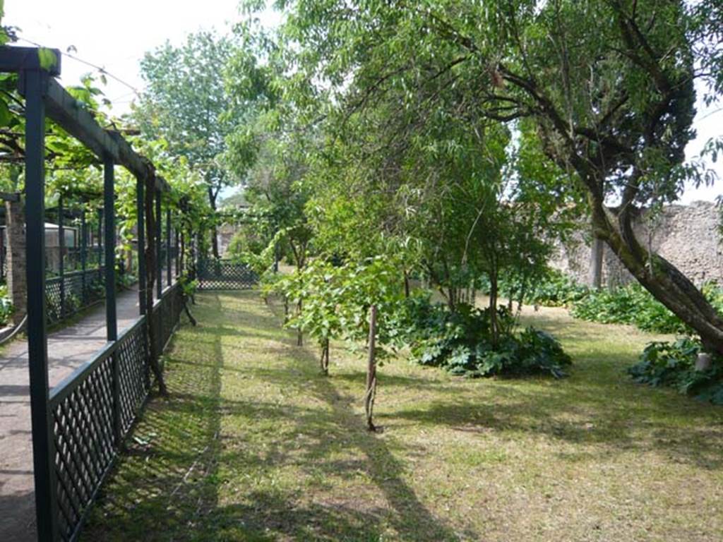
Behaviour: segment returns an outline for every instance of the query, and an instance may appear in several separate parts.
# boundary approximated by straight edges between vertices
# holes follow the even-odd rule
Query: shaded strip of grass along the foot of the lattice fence
[[[192,540],[205,511],[215,507],[221,342],[205,346],[212,363],[179,364],[168,356],[170,397],[147,404],[81,540]]]

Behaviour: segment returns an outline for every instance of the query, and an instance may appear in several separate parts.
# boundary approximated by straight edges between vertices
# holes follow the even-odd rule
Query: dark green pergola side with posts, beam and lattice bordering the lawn
[[[25,215],[27,240],[27,343],[30,365],[30,406],[33,432],[35,502],[40,541],[74,540],[85,521],[87,504],[93,501],[100,484],[121,446],[124,434],[134,420],[137,408],[150,388],[148,352],[163,349],[178,321],[177,296],[165,296],[161,284],[161,199],[168,184],[155,174],[149,160],[135,152],[121,134],[103,129],[93,115],[56,81],[61,72],[61,54],[44,66],[40,49],[0,47],[0,72],[19,74],[19,91],[25,98]],[[79,368],[66,381],[48,384],[45,247],[45,122],[52,119],[62,129],[89,148],[103,163],[104,275],[106,293],[106,335],[108,345],[93,360]],[[138,279],[140,318],[119,340],[116,323],[116,215],[114,211],[114,166],[127,168],[137,180]],[[155,277],[158,307],[148,296],[145,254],[145,189],[155,198]],[[150,196],[150,194],[149,194]],[[152,208],[152,207],[151,207]],[[62,211],[61,211],[62,212]],[[171,285],[171,209],[166,208],[166,256],[168,286]],[[62,228],[62,224],[61,224]],[[149,260],[153,262],[153,258]],[[176,288],[176,291],[179,290]],[[166,305],[161,306],[161,301]],[[163,298],[163,299],[162,299]],[[158,317],[156,320],[156,312]],[[150,317],[147,314],[150,313]],[[168,320],[168,325],[166,325]],[[152,328],[158,324],[153,338]],[[161,329],[161,327],[168,329]],[[139,331],[140,330],[140,331]],[[151,333],[151,343],[148,335]],[[121,367],[140,375],[124,376]],[[135,365],[133,365],[135,364]],[[145,365],[144,365],[145,364]],[[145,371],[144,371],[145,369]],[[100,371],[103,371],[102,373]],[[145,372],[145,382],[141,382]],[[129,380],[130,378],[135,380]],[[83,395],[85,394],[85,395]],[[93,410],[105,409],[110,416]],[[108,419],[106,419],[108,418]],[[72,423],[86,423],[88,435],[77,433]],[[67,426],[64,426],[66,424]],[[59,444],[61,443],[61,444]],[[62,447],[62,449],[60,449]],[[85,457],[87,455],[87,457]]]

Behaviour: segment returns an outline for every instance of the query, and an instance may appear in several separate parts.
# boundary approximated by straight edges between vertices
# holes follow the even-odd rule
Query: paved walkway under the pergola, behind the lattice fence
[[[138,291],[116,298],[118,330],[138,317]],[[48,335],[48,377],[56,386],[106,344],[106,306]],[[27,343],[16,341],[0,356],[0,541],[35,541],[33,446]]]

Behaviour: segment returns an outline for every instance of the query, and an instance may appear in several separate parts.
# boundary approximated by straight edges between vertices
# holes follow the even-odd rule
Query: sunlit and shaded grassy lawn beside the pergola
[[[298,348],[257,293],[204,293],[85,541],[723,540],[723,408],[625,377],[653,336],[526,314],[572,376],[380,369]]]

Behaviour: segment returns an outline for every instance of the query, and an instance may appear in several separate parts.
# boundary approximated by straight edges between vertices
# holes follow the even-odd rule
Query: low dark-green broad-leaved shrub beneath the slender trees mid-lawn
[[[504,307],[498,309],[502,335],[497,345],[490,342],[489,309],[460,304],[455,311],[447,306],[425,304],[412,298],[407,309],[416,335],[410,337],[414,361],[440,366],[466,377],[549,373],[564,377],[570,357],[552,335],[532,327],[515,334],[515,319]]]

